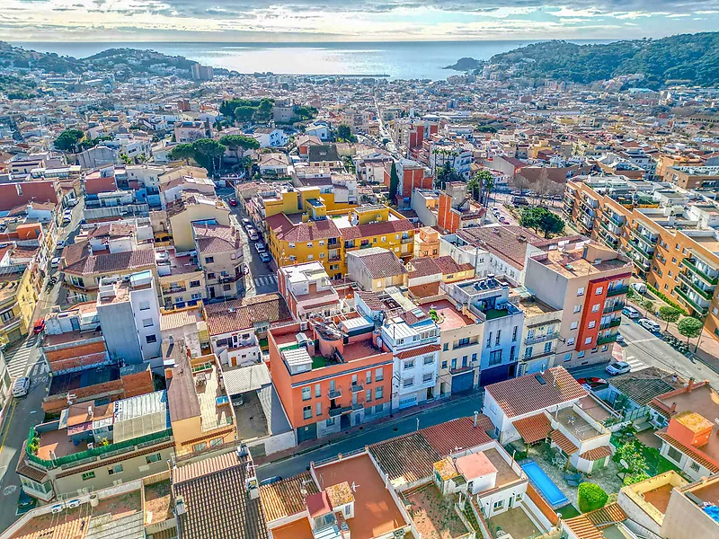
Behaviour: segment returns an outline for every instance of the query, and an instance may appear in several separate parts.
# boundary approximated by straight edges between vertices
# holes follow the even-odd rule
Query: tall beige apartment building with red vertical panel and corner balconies
[[[561,251],[529,257],[526,287],[563,311],[555,364],[577,367],[611,358],[631,268],[623,255],[582,236]]]

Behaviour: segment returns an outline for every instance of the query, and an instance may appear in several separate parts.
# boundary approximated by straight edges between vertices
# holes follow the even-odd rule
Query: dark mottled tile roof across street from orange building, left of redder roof
[[[419,432],[373,444],[369,452],[393,482],[412,483],[429,477],[433,464],[441,458]]]

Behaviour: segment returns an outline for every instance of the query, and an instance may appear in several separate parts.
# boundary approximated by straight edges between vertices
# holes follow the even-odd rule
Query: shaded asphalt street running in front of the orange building
[[[419,429],[423,429],[444,421],[472,416],[475,411],[482,412],[482,395],[483,393],[481,392],[471,393],[467,395],[466,398],[447,401],[439,406],[419,411],[416,414],[399,420],[380,423],[374,428],[370,423],[365,430],[360,433],[351,437],[342,438],[328,446],[319,447],[302,455],[294,455],[279,462],[262,464],[257,467],[257,475],[260,480],[275,475],[291,477],[297,475],[297,473],[305,472],[311,462],[331,458],[339,453],[349,453],[391,437],[413,432],[418,429],[417,420],[419,420]]]

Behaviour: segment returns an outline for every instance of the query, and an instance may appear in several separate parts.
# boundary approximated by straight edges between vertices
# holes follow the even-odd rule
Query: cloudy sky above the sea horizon
[[[719,0],[1,0],[8,41],[661,38],[719,29]]]

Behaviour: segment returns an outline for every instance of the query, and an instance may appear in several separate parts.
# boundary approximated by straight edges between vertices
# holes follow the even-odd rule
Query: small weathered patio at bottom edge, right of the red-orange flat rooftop
[[[454,509],[456,496],[442,497],[432,484],[413,490],[404,499],[422,539],[455,539],[469,533]]]

